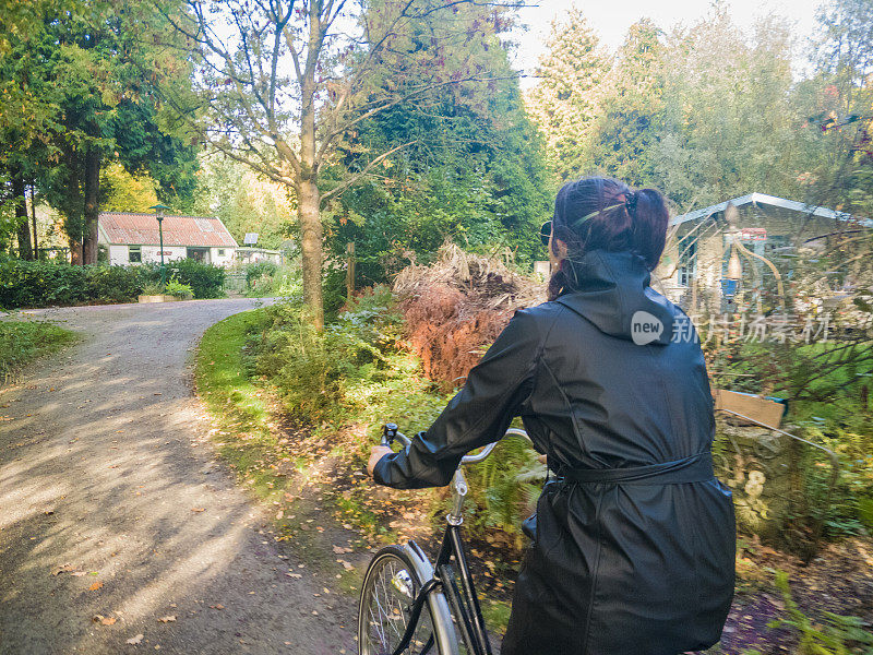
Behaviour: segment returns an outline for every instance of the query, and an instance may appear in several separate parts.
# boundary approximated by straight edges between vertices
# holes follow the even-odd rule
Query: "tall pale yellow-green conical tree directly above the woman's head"
[[[591,127],[609,70],[610,58],[578,9],[573,7],[563,21],[552,23],[527,106],[546,138],[551,168],[562,180],[591,166]]]

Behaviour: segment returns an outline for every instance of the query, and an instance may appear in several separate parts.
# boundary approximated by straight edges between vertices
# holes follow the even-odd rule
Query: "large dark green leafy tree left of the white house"
[[[8,35],[0,52],[7,97],[26,100],[19,118],[19,105],[4,103],[5,166],[12,180],[35,180],[61,212],[72,261],[95,263],[100,171],[107,163],[188,170],[180,179],[187,176],[190,194],[194,154],[158,129],[152,93],[163,78],[184,78],[189,69],[176,51],[171,60],[166,48],[155,47],[154,36],[166,24],[145,0],[37,2],[25,17],[28,29]],[[164,177],[159,181],[171,181]]]

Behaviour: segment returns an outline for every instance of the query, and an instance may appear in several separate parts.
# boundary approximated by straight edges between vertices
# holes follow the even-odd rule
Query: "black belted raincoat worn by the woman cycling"
[[[446,485],[521,416],[555,476],[537,504],[503,655],[677,655],[719,640],[733,596],[730,491],[687,315],[644,261],[593,250],[579,288],[519,310],[406,451],[391,487]]]

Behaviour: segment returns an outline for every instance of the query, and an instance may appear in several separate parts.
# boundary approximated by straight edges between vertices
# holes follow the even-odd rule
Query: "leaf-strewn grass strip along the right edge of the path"
[[[267,385],[249,374],[246,345],[263,330],[264,317],[263,309],[238,313],[204,333],[194,360],[198,395],[213,419],[219,455],[238,481],[275,512],[275,540],[292,545],[310,570],[354,594],[359,571],[343,562],[352,558],[346,553],[367,545],[351,526],[330,520],[335,499],[330,485],[320,481],[319,462],[292,454],[297,440],[289,439],[288,426],[273,422]]]

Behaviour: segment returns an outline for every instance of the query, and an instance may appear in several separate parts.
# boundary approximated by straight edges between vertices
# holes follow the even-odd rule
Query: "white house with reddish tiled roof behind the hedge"
[[[97,242],[109,250],[111,264],[160,262],[160,235],[154,214],[104,212]],[[224,223],[207,216],[164,216],[164,261],[195,259],[229,266],[237,242]]]

